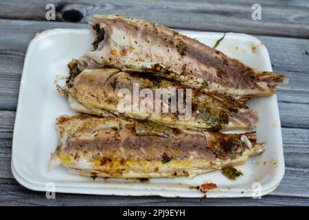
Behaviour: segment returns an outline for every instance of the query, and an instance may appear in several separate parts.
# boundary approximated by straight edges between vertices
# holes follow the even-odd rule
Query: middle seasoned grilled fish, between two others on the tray
[[[74,62],[73,62],[74,63]],[[73,64],[70,63],[69,66]],[[71,74],[77,72],[71,69]],[[120,72],[118,69],[84,69],[73,78],[71,75],[65,87],[58,87],[58,90],[66,94],[69,104],[73,109],[82,113],[92,115],[107,116],[116,115],[121,118],[133,118],[140,121],[155,122],[166,126],[178,127],[182,129],[192,130],[208,130],[219,131],[229,129],[252,129],[258,122],[258,114],[247,109],[246,104],[239,100],[235,100],[231,96],[223,96],[214,91],[202,93],[196,89],[190,89],[190,106],[186,106],[185,111],[170,111],[172,109],[172,101],[175,100],[177,107],[182,100],[179,101],[177,91],[186,91],[178,82],[173,82],[158,76],[141,77],[139,74],[128,72]],[[135,88],[142,91],[148,89],[148,95],[152,96],[150,107],[137,109],[133,111],[132,104],[127,111],[122,111],[119,104],[123,99],[119,92],[122,89],[129,91],[129,102],[134,100]],[[166,94],[162,102],[165,103],[168,111],[155,111],[157,90],[160,88],[162,94]],[[165,90],[162,90],[165,89]],[[150,94],[149,94],[150,92]],[[156,97],[157,96],[157,97]],[[141,107],[141,103],[146,100],[146,96],[137,94],[137,106]],[[164,101],[165,100],[165,101]],[[161,102],[160,102],[161,106]],[[190,110],[190,112],[189,112]],[[185,116],[187,115],[187,118]],[[183,118],[180,118],[183,116]]]

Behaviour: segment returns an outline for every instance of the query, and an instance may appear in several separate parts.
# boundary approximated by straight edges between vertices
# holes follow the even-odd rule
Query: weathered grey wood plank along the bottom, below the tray
[[[267,195],[262,199],[187,199],[163,197],[113,197],[56,193],[46,199],[45,192],[23,188],[14,179],[0,178],[1,206],[308,206],[308,197]]]

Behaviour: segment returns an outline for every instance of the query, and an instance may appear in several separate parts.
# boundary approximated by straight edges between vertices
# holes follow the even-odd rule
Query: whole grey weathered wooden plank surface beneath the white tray
[[[45,21],[45,1],[0,2],[0,205],[20,206],[264,206],[309,205],[309,2],[308,1],[49,1],[57,21]],[[251,5],[262,5],[252,21]],[[75,11],[74,11],[75,10]],[[73,11],[73,13],[72,13]],[[78,12],[76,12],[78,11]],[[79,13],[80,12],[80,13]],[[78,14],[79,13],[79,14]],[[277,89],[286,173],[262,199],[182,199],[57,194],[46,199],[19,185],[10,170],[12,132],[27,45],[49,28],[87,28],[94,13],[118,13],[172,28],[244,32],[264,42],[274,72],[290,78]],[[76,16],[77,14],[77,16]],[[66,21],[79,21],[67,23]]]

